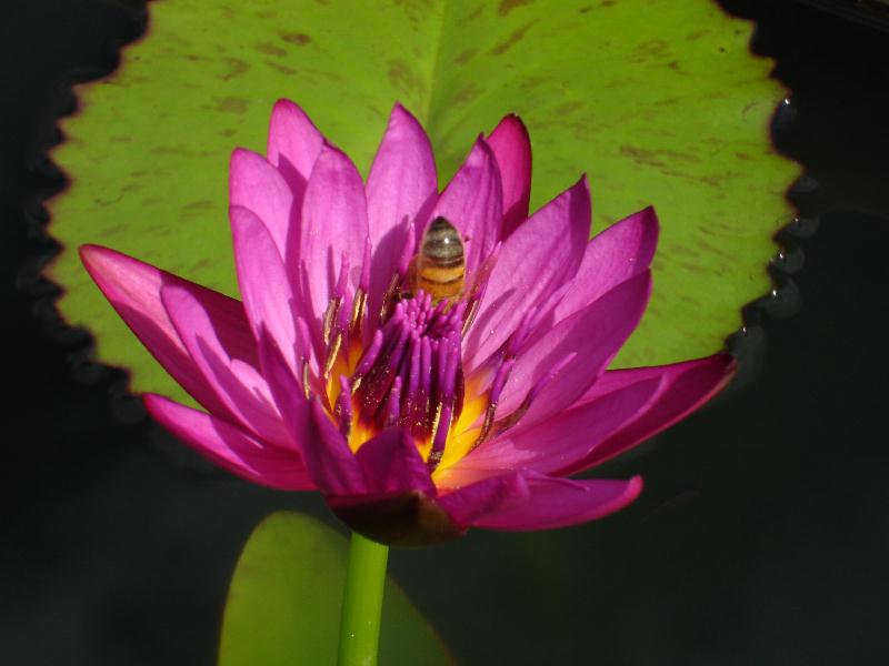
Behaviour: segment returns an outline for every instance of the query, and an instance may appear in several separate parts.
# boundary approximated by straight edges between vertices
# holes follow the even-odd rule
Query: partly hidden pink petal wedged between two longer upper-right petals
[[[616,222],[587,245],[583,261],[553,321],[589,305],[621,282],[647,271],[658,245],[658,216],[649,206]]]

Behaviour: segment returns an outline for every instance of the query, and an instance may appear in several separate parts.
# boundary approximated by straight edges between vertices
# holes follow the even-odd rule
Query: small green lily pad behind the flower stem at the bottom
[[[253,531],[229,588],[219,666],[334,664],[348,542],[318,521],[280,512]],[[387,581],[380,664],[452,666],[404,593]]]

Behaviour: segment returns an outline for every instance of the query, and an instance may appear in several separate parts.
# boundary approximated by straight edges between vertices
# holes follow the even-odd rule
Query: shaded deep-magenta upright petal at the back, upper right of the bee
[[[503,183],[503,229],[507,239],[528,218],[531,200],[531,139],[518,115],[507,115],[488,137]]]

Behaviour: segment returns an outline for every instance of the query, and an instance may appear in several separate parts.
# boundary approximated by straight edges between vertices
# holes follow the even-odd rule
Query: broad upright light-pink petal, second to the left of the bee
[[[300,236],[300,270],[306,272],[302,293],[311,307],[308,321],[314,330],[321,330],[343,254],[350,266],[348,292],[354,293],[358,287],[367,239],[361,174],[344,153],[324,144],[306,190]]]

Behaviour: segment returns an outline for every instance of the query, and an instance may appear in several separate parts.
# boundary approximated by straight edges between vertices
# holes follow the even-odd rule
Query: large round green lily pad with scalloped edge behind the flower
[[[712,353],[766,293],[783,192],[769,141],[782,97],[751,24],[708,0],[449,2],[160,0],[111,77],[78,88],[53,159],[63,251],[49,273],[69,322],[133,389],[182,397],[90,283],[100,243],[237,294],[227,223],[234,147],[262,151],[272,103],[301,104],[367,172],[392,103],[426,125],[442,183],[505,113],[535,149],[532,205],[588,172],[595,229],[655,204],[655,294],[619,365]]]

